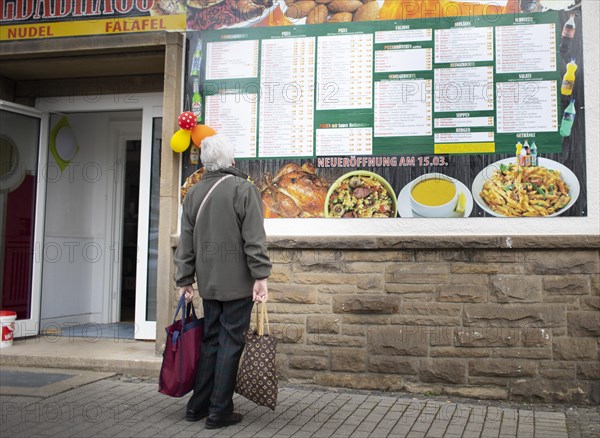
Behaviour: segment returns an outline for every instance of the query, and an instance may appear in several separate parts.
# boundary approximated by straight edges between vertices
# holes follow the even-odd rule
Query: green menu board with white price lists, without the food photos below
[[[503,154],[523,133],[559,152],[557,21],[548,12],[206,31],[206,120],[242,102],[221,130],[239,158]]]

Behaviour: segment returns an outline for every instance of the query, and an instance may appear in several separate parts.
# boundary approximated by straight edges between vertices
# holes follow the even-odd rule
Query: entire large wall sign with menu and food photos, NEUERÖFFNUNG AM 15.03
[[[188,12],[184,109],[233,142],[265,217],[587,215],[580,4],[213,3]]]

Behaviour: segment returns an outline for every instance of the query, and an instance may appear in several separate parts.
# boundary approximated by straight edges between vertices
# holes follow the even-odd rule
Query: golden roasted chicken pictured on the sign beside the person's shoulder
[[[329,184],[313,163],[288,163],[277,174],[263,175],[259,186],[265,217],[323,217]]]

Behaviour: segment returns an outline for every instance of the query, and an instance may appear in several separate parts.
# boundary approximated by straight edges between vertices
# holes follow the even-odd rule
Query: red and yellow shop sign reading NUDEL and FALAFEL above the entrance
[[[185,30],[185,0],[0,0],[0,40]]]

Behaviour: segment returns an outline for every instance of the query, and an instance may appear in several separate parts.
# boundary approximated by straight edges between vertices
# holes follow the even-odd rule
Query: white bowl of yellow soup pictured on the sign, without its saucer
[[[419,216],[450,217],[459,190],[456,180],[441,173],[427,173],[410,183],[411,208]]]

